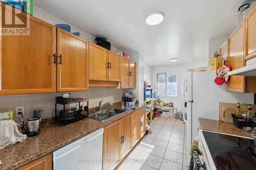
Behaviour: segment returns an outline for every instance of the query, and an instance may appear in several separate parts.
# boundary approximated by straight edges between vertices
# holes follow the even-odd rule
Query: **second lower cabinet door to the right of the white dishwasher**
[[[133,114],[122,118],[122,158],[133,146]]]

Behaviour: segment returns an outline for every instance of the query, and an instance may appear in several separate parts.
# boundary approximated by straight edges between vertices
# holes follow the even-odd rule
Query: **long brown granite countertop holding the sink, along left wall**
[[[143,106],[143,104],[137,104],[135,109],[138,110]],[[0,150],[0,160],[2,161],[0,169],[11,170],[22,166],[76,139],[109,125],[132,112],[133,111],[127,111],[121,113],[104,122],[86,118],[65,126],[53,124],[43,125],[40,128],[41,133],[39,135],[28,137],[23,142],[18,142],[11,147]]]

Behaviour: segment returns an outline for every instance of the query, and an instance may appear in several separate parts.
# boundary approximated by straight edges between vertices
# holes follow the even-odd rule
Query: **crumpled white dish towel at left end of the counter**
[[[19,132],[18,127],[20,125],[12,119],[0,121],[0,149],[9,147],[27,138],[27,135]]]

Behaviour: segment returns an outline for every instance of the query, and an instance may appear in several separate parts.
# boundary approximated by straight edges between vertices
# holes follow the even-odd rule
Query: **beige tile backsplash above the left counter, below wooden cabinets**
[[[0,111],[13,110],[13,119],[16,123],[21,124],[18,117],[15,117],[16,106],[25,107],[24,119],[26,122],[27,118],[33,117],[33,110],[37,108],[44,110],[42,113],[43,119],[52,117],[55,96],[70,93],[70,97],[89,98],[89,108],[91,108],[98,106],[100,100],[103,100],[102,104],[105,102],[119,102],[125,92],[125,89],[115,87],[90,87],[89,91],[0,95]]]

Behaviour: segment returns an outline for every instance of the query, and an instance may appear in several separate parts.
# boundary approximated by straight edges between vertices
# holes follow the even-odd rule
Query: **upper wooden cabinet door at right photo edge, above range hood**
[[[245,60],[256,57],[256,6],[245,18]]]

